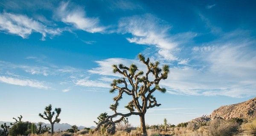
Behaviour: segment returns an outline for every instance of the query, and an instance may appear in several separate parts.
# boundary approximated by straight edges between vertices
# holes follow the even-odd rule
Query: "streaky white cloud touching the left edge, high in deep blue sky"
[[[33,20],[22,14],[0,13],[0,31],[8,34],[19,35],[22,38],[28,38],[32,32],[42,34],[41,40],[45,40],[47,35],[55,36],[61,34],[60,29],[53,29],[44,26],[42,23]]]

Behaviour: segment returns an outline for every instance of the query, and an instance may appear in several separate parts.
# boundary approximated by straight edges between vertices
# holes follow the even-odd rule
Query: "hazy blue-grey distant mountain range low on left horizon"
[[[11,127],[10,123],[14,123],[14,122],[2,122],[2,121],[0,121],[0,125],[1,125],[1,124],[4,124],[4,123],[6,123],[6,125],[9,125],[9,126]],[[48,126],[49,126],[49,127],[51,126],[51,125],[48,124],[48,123],[43,123],[43,126],[44,126],[44,125],[46,125],[47,127],[48,127]],[[67,124],[67,123],[55,123],[55,124],[54,124],[54,131],[64,131],[64,130],[70,129],[71,126],[72,126],[72,125]],[[83,130],[84,128],[85,128],[84,126],[78,127],[79,130]],[[91,126],[90,128],[91,128],[91,129],[94,129],[94,128],[96,128],[96,127]]]

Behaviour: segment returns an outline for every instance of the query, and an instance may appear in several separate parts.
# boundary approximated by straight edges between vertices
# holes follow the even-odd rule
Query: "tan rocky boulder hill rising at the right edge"
[[[251,119],[256,118],[256,97],[249,99],[246,102],[241,102],[233,105],[221,106],[220,108],[214,110],[209,118],[241,118],[241,119]]]

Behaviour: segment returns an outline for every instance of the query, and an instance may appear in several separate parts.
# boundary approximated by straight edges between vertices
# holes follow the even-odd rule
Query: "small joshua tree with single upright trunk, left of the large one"
[[[55,112],[57,113],[57,115],[55,116],[55,120],[52,121],[52,117],[54,116]],[[58,116],[61,113],[61,108],[55,108],[55,112],[52,111],[52,105],[49,105],[47,107],[45,107],[44,109],[44,114],[39,113],[39,116],[45,120],[48,120],[51,124],[51,128],[52,128],[52,135],[53,135],[53,125],[55,122],[59,123],[61,121],[61,119],[58,119]],[[45,117],[44,117],[45,116]]]

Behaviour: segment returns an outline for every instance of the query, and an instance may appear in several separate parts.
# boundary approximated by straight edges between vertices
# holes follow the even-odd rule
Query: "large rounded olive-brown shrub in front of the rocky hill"
[[[238,133],[239,123],[215,119],[209,125],[210,136],[233,136]]]

